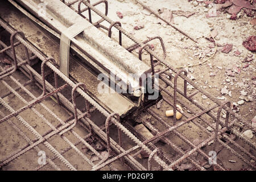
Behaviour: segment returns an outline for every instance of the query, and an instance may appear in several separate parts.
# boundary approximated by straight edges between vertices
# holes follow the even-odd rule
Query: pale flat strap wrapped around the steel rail
[[[61,33],[60,36],[60,71],[63,72],[67,77],[69,76],[69,48],[71,40],[75,36],[79,35],[86,28],[86,20],[77,22],[67,30]]]

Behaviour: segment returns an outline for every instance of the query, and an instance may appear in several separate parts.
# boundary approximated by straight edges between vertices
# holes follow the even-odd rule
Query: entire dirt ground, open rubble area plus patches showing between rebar
[[[92,1],[93,3],[94,1]],[[214,97],[219,98],[221,101],[229,100],[233,102],[234,110],[236,109],[238,114],[240,114],[244,119],[251,122],[251,120],[255,117],[255,98],[256,98],[256,88],[255,88],[255,52],[251,52],[247,50],[243,45],[243,41],[246,40],[247,37],[256,35],[256,26],[253,26],[250,23],[252,17],[247,16],[244,13],[244,9],[238,13],[238,18],[236,20],[230,19],[230,15],[226,12],[227,9],[222,9],[217,11],[216,17],[208,18],[210,9],[213,4],[205,5],[205,3],[201,1],[191,1],[180,0],[180,1],[143,1],[147,6],[150,6],[154,10],[163,11],[162,16],[166,18],[170,18],[170,11],[174,11],[172,13],[172,18],[170,18],[171,22],[184,32],[187,32],[189,36],[196,39],[198,43],[192,42],[192,40],[188,39],[186,36],[180,34],[174,28],[168,26],[162,20],[155,17],[155,15],[150,14],[148,11],[144,10],[143,7],[136,3],[133,0],[114,0],[109,1],[109,18],[114,21],[119,21],[122,23],[122,27],[125,30],[129,31],[130,34],[134,35],[137,39],[146,40],[148,38],[154,36],[160,36],[164,44],[166,46],[168,63],[172,64],[174,67],[180,66],[188,66],[191,64],[197,64],[201,61],[208,59],[210,56],[214,55],[211,59],[209,59],[206,63],[201,65],[185,68],[188,71],[189,77],[192,80],[195,80],[196,84],[200,85],[208,93],[211,93]],[[197,3],[196,3],[197,2]],[[98,9],[104,11],[104,6],[97,6]],[[170,10],[170,11],[169,11]],[[117,11],[122,13],[123,18],[119,18],[117,16]],[[195,13],[188,18],[185,16],[181,16],[179,13],[175,13],[175,11],[191,11]],[[8,19],[8,18],[7,18]],[[104,24],[104,23],[103,23]],[[18,26],[18,25],[16,25]],[[106,26],[109,26],[106,24]],[[135,30],[135,26],[142,26],[140,30]],[[21,27],[22,28],[22,27]],[[102,30],[103,31],[103,30]],[[215,40],[217,43],[217,52],[214,54],[214,43],[210,42],[208,39],[210,38],[210,34],[214,34]],[[118,38],[117,30],[113,30],[113,37],[115,39]],[[32,38],[31,38],[32,39]],[[34,39],[34,38],[33,38]],[[48,38],[45,38],[48,39]],[[129,46],[132,42],[128,38],[123,38],[123,44]],[[158,41],[152,41],[154,44],[154,51],[159,55],[162,55],[162,49]],[[226,44],[232,44],[232,50],[229,53],[224,53],[221,50],[224,48]],[[240,52],[240,55],[238,55]],[[135,55],[138,55],[138,50],[133,51]],[[56,53],[57,55],[57,53]],[[245,62],[245,59],[252,59],[249,62]],[[143,60],[146,60],[149,63],[149,55],[148,53],[143,53]],[[25,79],[21,74],[16,74],[19,80]],[[25,82],[25,81],[24,81]],[[6,93],[6,88],[2,86],[2,82],[0,83],[1,87],[1,95],[2,93]],[[180,84],[181,85],[181,84]],[[28,86],[31,90],[35,89]],[[189,93],[193,93],[195,90],[193,87],[188,85]],[[35,92],[39,94],[38,92]],[[9,102],[13,105],[14,110],[19,109],[22,104],[19,103],[11,94],[6,97],[6,102]],[[194,97],[195,100],[204,104],[205,106],[210,106],[212,103],[206,99],[203,95],[197,94]],[[243,100],[244,102],[239,102]],[[241,104],[239,105],[238,104]],[[61,107],[56,106],[52,100],[46,101],[47,106],[51,110],[54,110],[61,117],[67,118],[68,114]],[[160,109],[156,109],[156,106],[153,106],[152,109],[157,113],[163,115],[163,118],[168,120],[169,118],[164,116],[164,111],[168,109],[167,105],[163,102]],[[183,108],[184,109],[184,108]],[[3,113],[7,114],[6,110],[1,109]],[[189,114],[188,108],[184,109],[185,113]],[[42,110],[40,110],[42,111]],[[33,126],[35,123],[35,119],[33,115],[30,113],[26,114],[26,117],[32,121],[31,125]],[[141,118],[137,119],[137,122],[143,119],[146,119],[147,114],[144,113]],[[225,117],[225,114],[222,114],[222,117]],[[50,119],[50,118],[49,118]],[[101,123],[104,121],[104,117],[97,118],[96,121]],[[208,118],[209,119],[209,118]],[[53,123],[55,123],[54,119],[52,119]],[[154,123],[155,122],[155,123]],[[151,119],[151,123],[154,123],[155,126],[159,125],[157,121]],[[170,123],[172,123],[170,121]],[[134,123],[131,123],[133,125]],[[4,126],[3,126],[4,125]],[[25,143],[16,142],[19,141],[20,136],[15,135],[15,131],[10,130],[10,127],[5,126],[7,123],[2,123],[3,127],[1,129],[1,141],[0,141],[0,156],[2,160],[7,155],[10,154],[11,151],[17,150],[20,146],[23,146]],[[47,126],[42,121],[37,122],[36,128],[40,130],[40,132],[47,131]],[[49,128],[48,128],[49,129]],[[78,127],[76,129],[81,135],[86,135],[82,128]],[[246,129],[243,129],[245,131]],[[113,129],[114,131],[114,129]],[[188,123],[183,127],[180,127],[179,131],[185,134],[189,139],[194,140],[204,140],[207,138],[207,135],[202,133],[193,125],[193,123]],[[32,136],[31,136],[32,137]],[[116,136],[115,136],[116,137]],[[13,138],[10,140],[9,138]],[[187,144],[184,144],[176,135],[170,134],[168,138],[171,138],[177,146],[181,147],[184,151],[189,150]],[[58,141],[58,139],[56,139]],[[243,147],[250,150],[247,144],[241,142],[241,140],[236,139],[238,143],[240,143]],[[252,139],[255,142],[255,134]],[[54,147],[61,150],[61,148],[67,147],[65,146],[65,142],[55,143]],[[167,156],[170,156],[172,159],[179,158],[177,152],[170,149],[167,145],[163,143],[157,143],[157,146],[163,147],[164,151],[166,151]],[[126,148],[129,148],[132,144],[127,145]],[[82,147],[82,146],[80,146]],[[204,147],[205,152],[209,152],[212,149],[212,144]],[[81,149],[83,150],[83,149]],[[31,153],[31,154],[30,154]],[[8,166],[3,168],[4,170],[24,170],[24,169],[34,169],[36,167],[36,163],[31,162],[34,159],[37,159],[36,152],[30,152],[26,155],[26,157],[20,157],[18,160],[10,163]],[[80,163],[79,159],[76,159],[75,151],[71,151],[71,154],[66,154],[67,158],[70,158],[71,161],[77,165],[77,168],[80,170],[88,170],[90,167],[87,164]],[[85,151],[86,153],[86,151]],[[252,151],[251,154],[255,156],[255,151]],[[31,157],[34,155],[34,157]],[[228,150],[222,150],[220,154],[220,161],[222,165],[231,170],[241,170],[241,169],[250,169],[236,156],[233,156]],[[24,155],[23,155],[24,156]],[[194,155],[193,158],[200,160],[200,155]],[[142,162],[145,166],[147,164],[147,160],[142,160],[137,158],[140,162]],[[229,160],[236,161],[235,163],[229,162]],[[202,164],[205,160],[201,160]],[[249,159],[250,161],[250,159]],[[26,166],[24,164],[28,164],[31,162],[31,166]],[[255,162],[252,162],[255,163]],[[59,163],[58,163],[59,164]],[[184,164],[189,164],[185,162]],[[34,165],[34,166],[33,166]],[[26,166],[26,167],[24,167]],[[120,165],[116,165],[120,167]],[[213,168],[205,167],[209,170]],[[43,169],[52,169],[51,167],[46,167]],[[121,167],[121,169],[123,169]],[[127,168],[125,168],[127,169]],[[193,169],[193,168],[190,168]]]

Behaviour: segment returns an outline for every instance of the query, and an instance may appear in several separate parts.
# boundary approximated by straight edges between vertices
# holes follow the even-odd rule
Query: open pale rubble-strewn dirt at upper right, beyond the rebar
[[[217,17],[207,18],[211,5],[198,3],[195,6],[193,2],[196,1],[145,1],[144,4],[154,10],[181,10],[195,13],[189,18],[173,14],[172,22],[177,28],[196,39],[198,44],[192,42],[192,40],[180,34],[147,10],[143,10],[141,5],[135,4],[135,1],[110,1],[109,6],[112,11],[109,12],[108,16],[121,22],[125,30],[130,31],[131,34],[142,41],[160,36],[164,40],[167,49],[166,60],[174,67],[196,64],[213,55],[214,43],[206,39],[210,38],[210,32],[213,30],[213,34],[217,34],[217,52],[206,63],[189,69],[186,68],[189,72],[188,75],[191,75],[201,88],[215,97],[225,97],[224,100],[236,102],[236,104],[240,100],[245,100],[245,104],[238,107],[240,114],[251,121],[255,116],[256,109],[255,80],[253,80],[256,76],[255,52],[247,50],[242,43],[247,37],[256,34],[256,27],[250,24],[252,17],[247,16],[242,9],[238,14],[241,18],[231,20],[228,19],[229,14],[224,9],[218,12]],[[123,14],[122,19],[118,18],[117,11]],[[137,24],[142,24],[144,27],[140,30],[134,30]],[[162,55],[159,42],[152,43],[155,45],[155,52]],[[229,53],[221,52],[226,44],[233,44]],[[241,54],[236,56],[236,51],[241,52]],[[149,57],[147,53],[144,53],[144,55],[143,59]],[[252,57],[252,61],[245,62],[246,57]],[[232,71],[232,74],[229,71]],[[228,91],[224,89],[222,94],[221,89],[225,86]],[[193,89],[191,88],[191,90]]]

